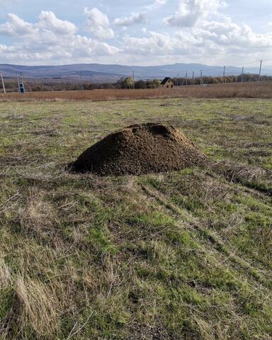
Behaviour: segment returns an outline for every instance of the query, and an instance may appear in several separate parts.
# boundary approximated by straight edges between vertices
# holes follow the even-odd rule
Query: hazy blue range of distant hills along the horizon
[[[169,64],[160,66],[124,66],[118,64],[71,64],[60,66],[23,66],[13,64],[0,64],[0,72],[4,77],[18,77],[23,73],[24,77],[30,79],[82,79],[89,81],[116,81],[120,77],[132,76],[135,72],[135,79],[162,79],[164,77],[188,77],[200,76],[221,76],[222,67],[207,66],[204,64]],[[239,67],[227,67],[226,75],[238,75],[241,73]]]

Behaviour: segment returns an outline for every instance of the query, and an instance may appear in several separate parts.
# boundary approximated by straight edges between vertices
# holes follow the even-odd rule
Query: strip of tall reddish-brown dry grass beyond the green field
[[[111,101],[154,98],[272,98],[272,83],[181,86],[175,89],[92,90],[0,94],[1,101]]]

